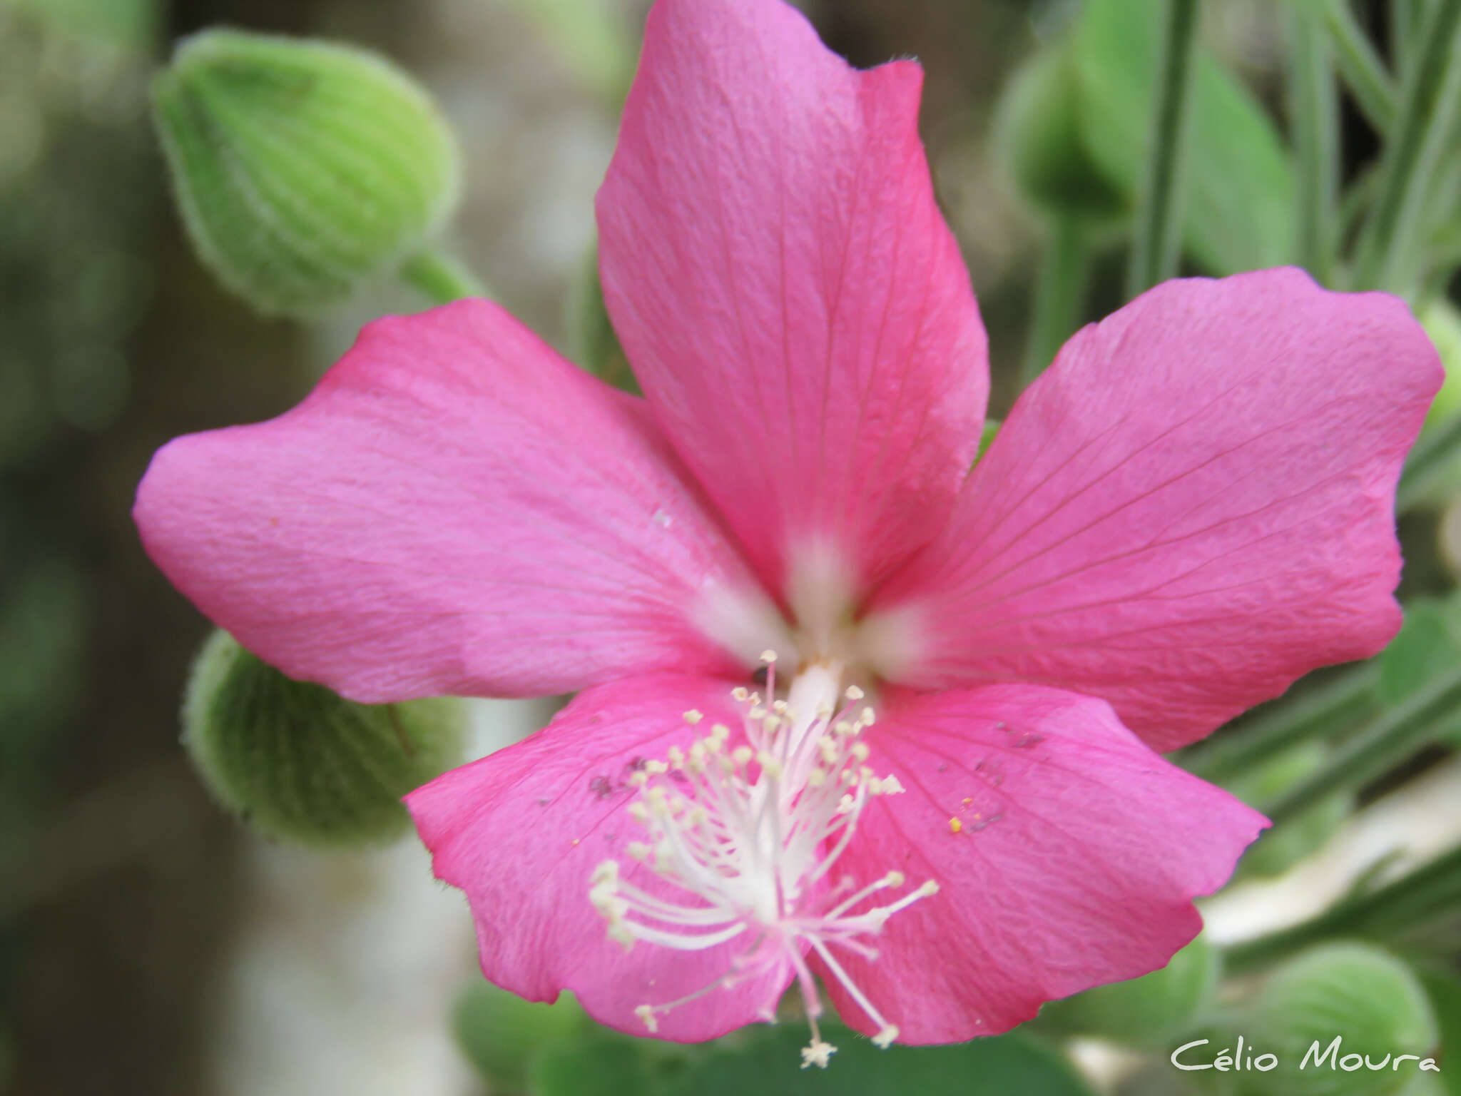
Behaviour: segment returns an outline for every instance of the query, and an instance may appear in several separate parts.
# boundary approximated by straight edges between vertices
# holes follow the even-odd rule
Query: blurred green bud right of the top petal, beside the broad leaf
[[[1068,48],[1036,54],[995,111],[995,149],[1020,193],[1052,213],[1122,216],[1128,203],[1087,155],[1080,83]]]

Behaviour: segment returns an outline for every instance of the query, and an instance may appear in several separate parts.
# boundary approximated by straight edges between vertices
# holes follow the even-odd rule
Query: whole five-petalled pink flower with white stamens
[[[1441,368],[1389,297],[1169,282],[969,473],[985,335],[919,89],[779,0],[659,0],[598,203],[644,400],[470,301],[142,484],[152,558],[292,675],[583,690],[409,796],[523,997],[690,1040],[793,981],[815,1016],[817,976],[925,1043],[1151,970],[1264,824],[1154,750],[1398,624]]]

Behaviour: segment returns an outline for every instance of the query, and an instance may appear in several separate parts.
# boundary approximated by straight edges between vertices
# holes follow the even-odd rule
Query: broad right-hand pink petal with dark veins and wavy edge
[[[1394,495],[1441,384],[1382,294],[1167,282],[1080,332],[878,595],[900,681],[1107,699],[1172,750],[1400,625]]]

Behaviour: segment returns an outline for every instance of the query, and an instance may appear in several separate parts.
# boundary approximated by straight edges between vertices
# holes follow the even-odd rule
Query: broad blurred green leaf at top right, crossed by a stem
[[[1087,0],[1072,39],[1080,137],[1106,181],[1134,196],[1157,86],[1160,0]],[[1188,134],[1186,251],[1218,275],[1281,266],[1294,247],[1293,170],[1256,98],[1198,57]]]

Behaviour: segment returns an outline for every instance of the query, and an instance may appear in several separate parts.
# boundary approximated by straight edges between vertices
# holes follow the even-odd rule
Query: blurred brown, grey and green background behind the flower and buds
[[[998,415],[1017,390],[1045,227],[1001,168],[995,101],[1077,4],[801,6],[858,64],[923,61],[923,134],[989,329]],[[1356,9],[1381,48],[1384,7]],[[431,880],[412,840],[300,850],[210,804],[178,745],[183,685],[209,628],[149,564],[129,517],[164,441],[279,414],[362,321],[422,301],[386,282],[305,324],[262,320],[228,295],[171,203],[148,82],[178,38],[215,25],[394,58],[463,146],[451,250],[567,351],[621,69],[646,9],[0,0],[0,1092],[484,1090],[449,1024],[475,972],[460,896]],[[1281,129],[1277,9],[1210,0],[1202,35]],[[1349,99],[1343,120],[1354,174],[1375,139]],[[1088,314],[1119,302],[1121,267],[1119,244],[1097,256]],[[1416,590],[1451,582],[1436,523],[1407,519]],[[546,712],[481,704],[476,753]],[[1461,830],[1455,777],[1448,750],[1417,756],[1366,789],[1369,802],[1404,785],[1372,836],[1332,842],[1318,875],[1214,907],[1214,931],[1302,916],[1397,842],[1411,856],[1446,848]]]

